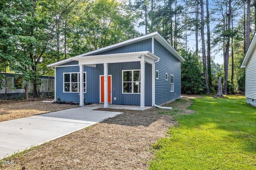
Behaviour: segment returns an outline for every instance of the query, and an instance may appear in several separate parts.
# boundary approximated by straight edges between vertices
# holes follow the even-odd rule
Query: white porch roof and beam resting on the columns
[[[72,57],[73,61],[78,61],[79,65],[90,65],[90,64],[103,64],[103,63],[125,63],[125,62],[136,62],[145,61],[146,63],[153,64],[155,60],[160,58],[150,51],[139,51],[131,53],[116,53],[116,54],[105,54],[105,55],[88,55],[82,57]]]

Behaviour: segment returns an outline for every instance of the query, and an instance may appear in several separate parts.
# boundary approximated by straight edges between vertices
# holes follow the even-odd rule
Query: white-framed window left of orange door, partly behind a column
[[[71,72],[64,73],[64,92],[79,92],[80,91],[80,73]],[[86,93],[86,72],[84,72],[84,92]]]

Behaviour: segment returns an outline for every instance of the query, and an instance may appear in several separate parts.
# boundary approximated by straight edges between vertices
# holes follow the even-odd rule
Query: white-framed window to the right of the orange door
[[[140,93],[140,70],[122,70],[123,93]]]

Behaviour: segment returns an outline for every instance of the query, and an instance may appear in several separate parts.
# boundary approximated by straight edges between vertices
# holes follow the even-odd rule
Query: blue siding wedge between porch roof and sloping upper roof
[[[103,54],[116,54],[116,53],[130,53],[130,52],[138,52],[138,51],[150,51],[152,52],[152,38],[146,39],[143,41],[139,41],[136,43],[132,43],[129,45],[124,45],[122,47],[118,47],[116,49],[104,51],[102,53],[98,53],[97,55]]]

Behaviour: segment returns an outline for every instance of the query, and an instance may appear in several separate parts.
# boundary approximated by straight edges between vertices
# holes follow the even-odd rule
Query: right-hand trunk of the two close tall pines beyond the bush
[[[207,70],[209,86],[212,86],[212,69],[211,69],[211,41],[210,41],[210,14],[209,1],[206,0],[206,28],[207,28]]]

